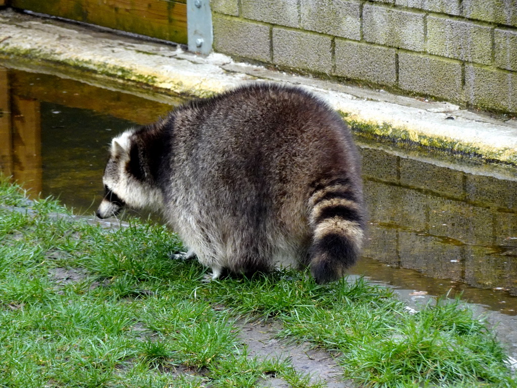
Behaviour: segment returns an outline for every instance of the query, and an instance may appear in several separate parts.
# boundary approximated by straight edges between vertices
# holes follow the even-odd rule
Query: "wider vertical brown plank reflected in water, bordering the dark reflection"
[[[34,198],[42,188],[39,101],[12,96],[11,107],[13,177]]]

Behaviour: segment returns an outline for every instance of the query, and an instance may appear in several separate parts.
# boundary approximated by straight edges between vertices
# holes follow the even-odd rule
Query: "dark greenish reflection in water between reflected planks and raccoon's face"
[[[41,103],[42,196],[59,196],[75,213],[93,215],[114,133],[135,125],[90,110]]]

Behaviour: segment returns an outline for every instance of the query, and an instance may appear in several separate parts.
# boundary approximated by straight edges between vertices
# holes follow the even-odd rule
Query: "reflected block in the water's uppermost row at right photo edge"
[[[467,175],[467,199],[481,206],[517,211],[517,182],[491,176]]]

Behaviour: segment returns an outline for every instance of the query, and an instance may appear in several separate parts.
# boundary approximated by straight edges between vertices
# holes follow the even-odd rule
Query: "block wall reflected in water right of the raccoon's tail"
[[[409,268],[428,279],[402,287],[424,285],[433,294],[452,288],[514,314],[515,298],[488,292],[480,299],[463,285],[517,295],[515,178],[438,167],[369,147],[361,154],[370,212],[364,256],[375,263],[365,260],[356,271],[383,280],[401,276],[399,283],[407,283],[404,272],[395,274],[393,267]]]

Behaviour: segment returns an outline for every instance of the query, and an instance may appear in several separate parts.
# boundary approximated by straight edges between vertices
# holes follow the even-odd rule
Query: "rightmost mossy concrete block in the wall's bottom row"
[[[465,98],[477,107],[517,112],[517,73],[466,65]]]

